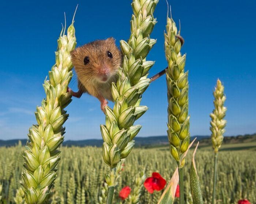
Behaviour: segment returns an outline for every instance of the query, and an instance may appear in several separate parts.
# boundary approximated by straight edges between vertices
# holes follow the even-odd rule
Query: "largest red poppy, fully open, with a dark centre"
[[[144,187],[148,192],[153,193],[154,190],[161,191],[166,184],[166,180],[157,172],[152,173],[152,177],[148,177],[144,182]]]

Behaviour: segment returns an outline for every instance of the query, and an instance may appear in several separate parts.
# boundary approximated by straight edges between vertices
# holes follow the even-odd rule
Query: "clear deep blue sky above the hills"
[[[176,22],[181,20],[189,70],[191,135],[210,135],[209,114],[217,78],[225,85],[226,135],[256,132],[256,1],[169,1]],[[42,83],[54,64],[57,38],[69,25],[76,7],[78,46],[113,36],[128,39],[131,0],[2,1],[0,12],[0,139],[27,138],[35,122],[34,111],[45,97]],[[167,6],[160,0],[151,38],[158,40],[148,60],[155,60],[150,76],[166,67],[163,49]],[[76,77],[71,88],[77,89]],[[166,135],[167,96],[165,77],[152,83],[143,95],[149,110],[136,123],[139,136]],[[111,104],[110,104],[111,105]],[[105,123],[99,101],[87,94],[67,107],[65,140],[101,138]]]

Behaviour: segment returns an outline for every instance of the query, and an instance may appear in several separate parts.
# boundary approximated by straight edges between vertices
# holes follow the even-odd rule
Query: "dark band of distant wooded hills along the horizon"
[[[210,136],[193,136],[191,140],[197,137],[197,141],[200,141],[200,145],[211,145]],[[27,140],[0,140],[0,146],[15,146],[21,141],[22,145],[26,145]],[[153,137],[136,137],[135,144],[137,147],[152,147],[152,146],[165,146],[168,145],[167,136],[153,136]],[[225,136],[224,144],[237,144],[246,142],[256,142],[255,134],[245,134],[238,136]],[[102,140],[89,139],[89,140],[65,140],[63,146],[102,146]]]

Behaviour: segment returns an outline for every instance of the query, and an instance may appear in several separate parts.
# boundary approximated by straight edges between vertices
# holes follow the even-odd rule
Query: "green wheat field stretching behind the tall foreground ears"
[[[15,203],[16,189],[23,169],[23,147],[0,148],[0,184],[3,203]],[[54,184],[52,203],[83,204],[101,203],[104,197],[104,173],[108,166],[102,160],[101,148],[61,148],[58,178]],[[185,166],[185,195],[190,195],[188,170],[191,154],[187,157],[189,165]],[[203,191],[204,203],[210,203],[212,189],[212,151],[198,150],[196,156],[197,170]],[[256,203],[256,152],[255,150],[222,151],[219,154],[219,178],[217,202],[223,204],[237,203],[241,198],[248,198]],[[159,172],[169,180],[176,168],[176,163],[165,148],[134,149],[124,162],[123,170],[117,180],[114,203],[121,203],[118,192],[126,185],[133,184],[135,176],[145,171],[146,176]],[[155,204],[161,192],[152,195],[144,188],[141,203]],[[186,197],[192,203],[191,196]]]

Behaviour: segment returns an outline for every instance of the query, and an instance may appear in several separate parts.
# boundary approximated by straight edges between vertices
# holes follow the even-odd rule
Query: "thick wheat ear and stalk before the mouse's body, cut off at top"
[[[131,36],[128,42],[120,42],[124,59],[117,83],[112,83],[115,103],[113,109],[106,106],[106,125],[101,125],[103,159],[111,169],[110,174],[106,174],[110,193],[107,203],[112,203],[116,165],[121,158],[129,155],[135,144],[133,138],[141,129],[141,125],[133,123],[148,109],[147,106],[140,106],[140,101],[150,83],[148,70],[154,64],[146,61],[146,56],[156,43],[149,35],[156,24],[153,12],[157,3],[158,0],[133,0]]]

